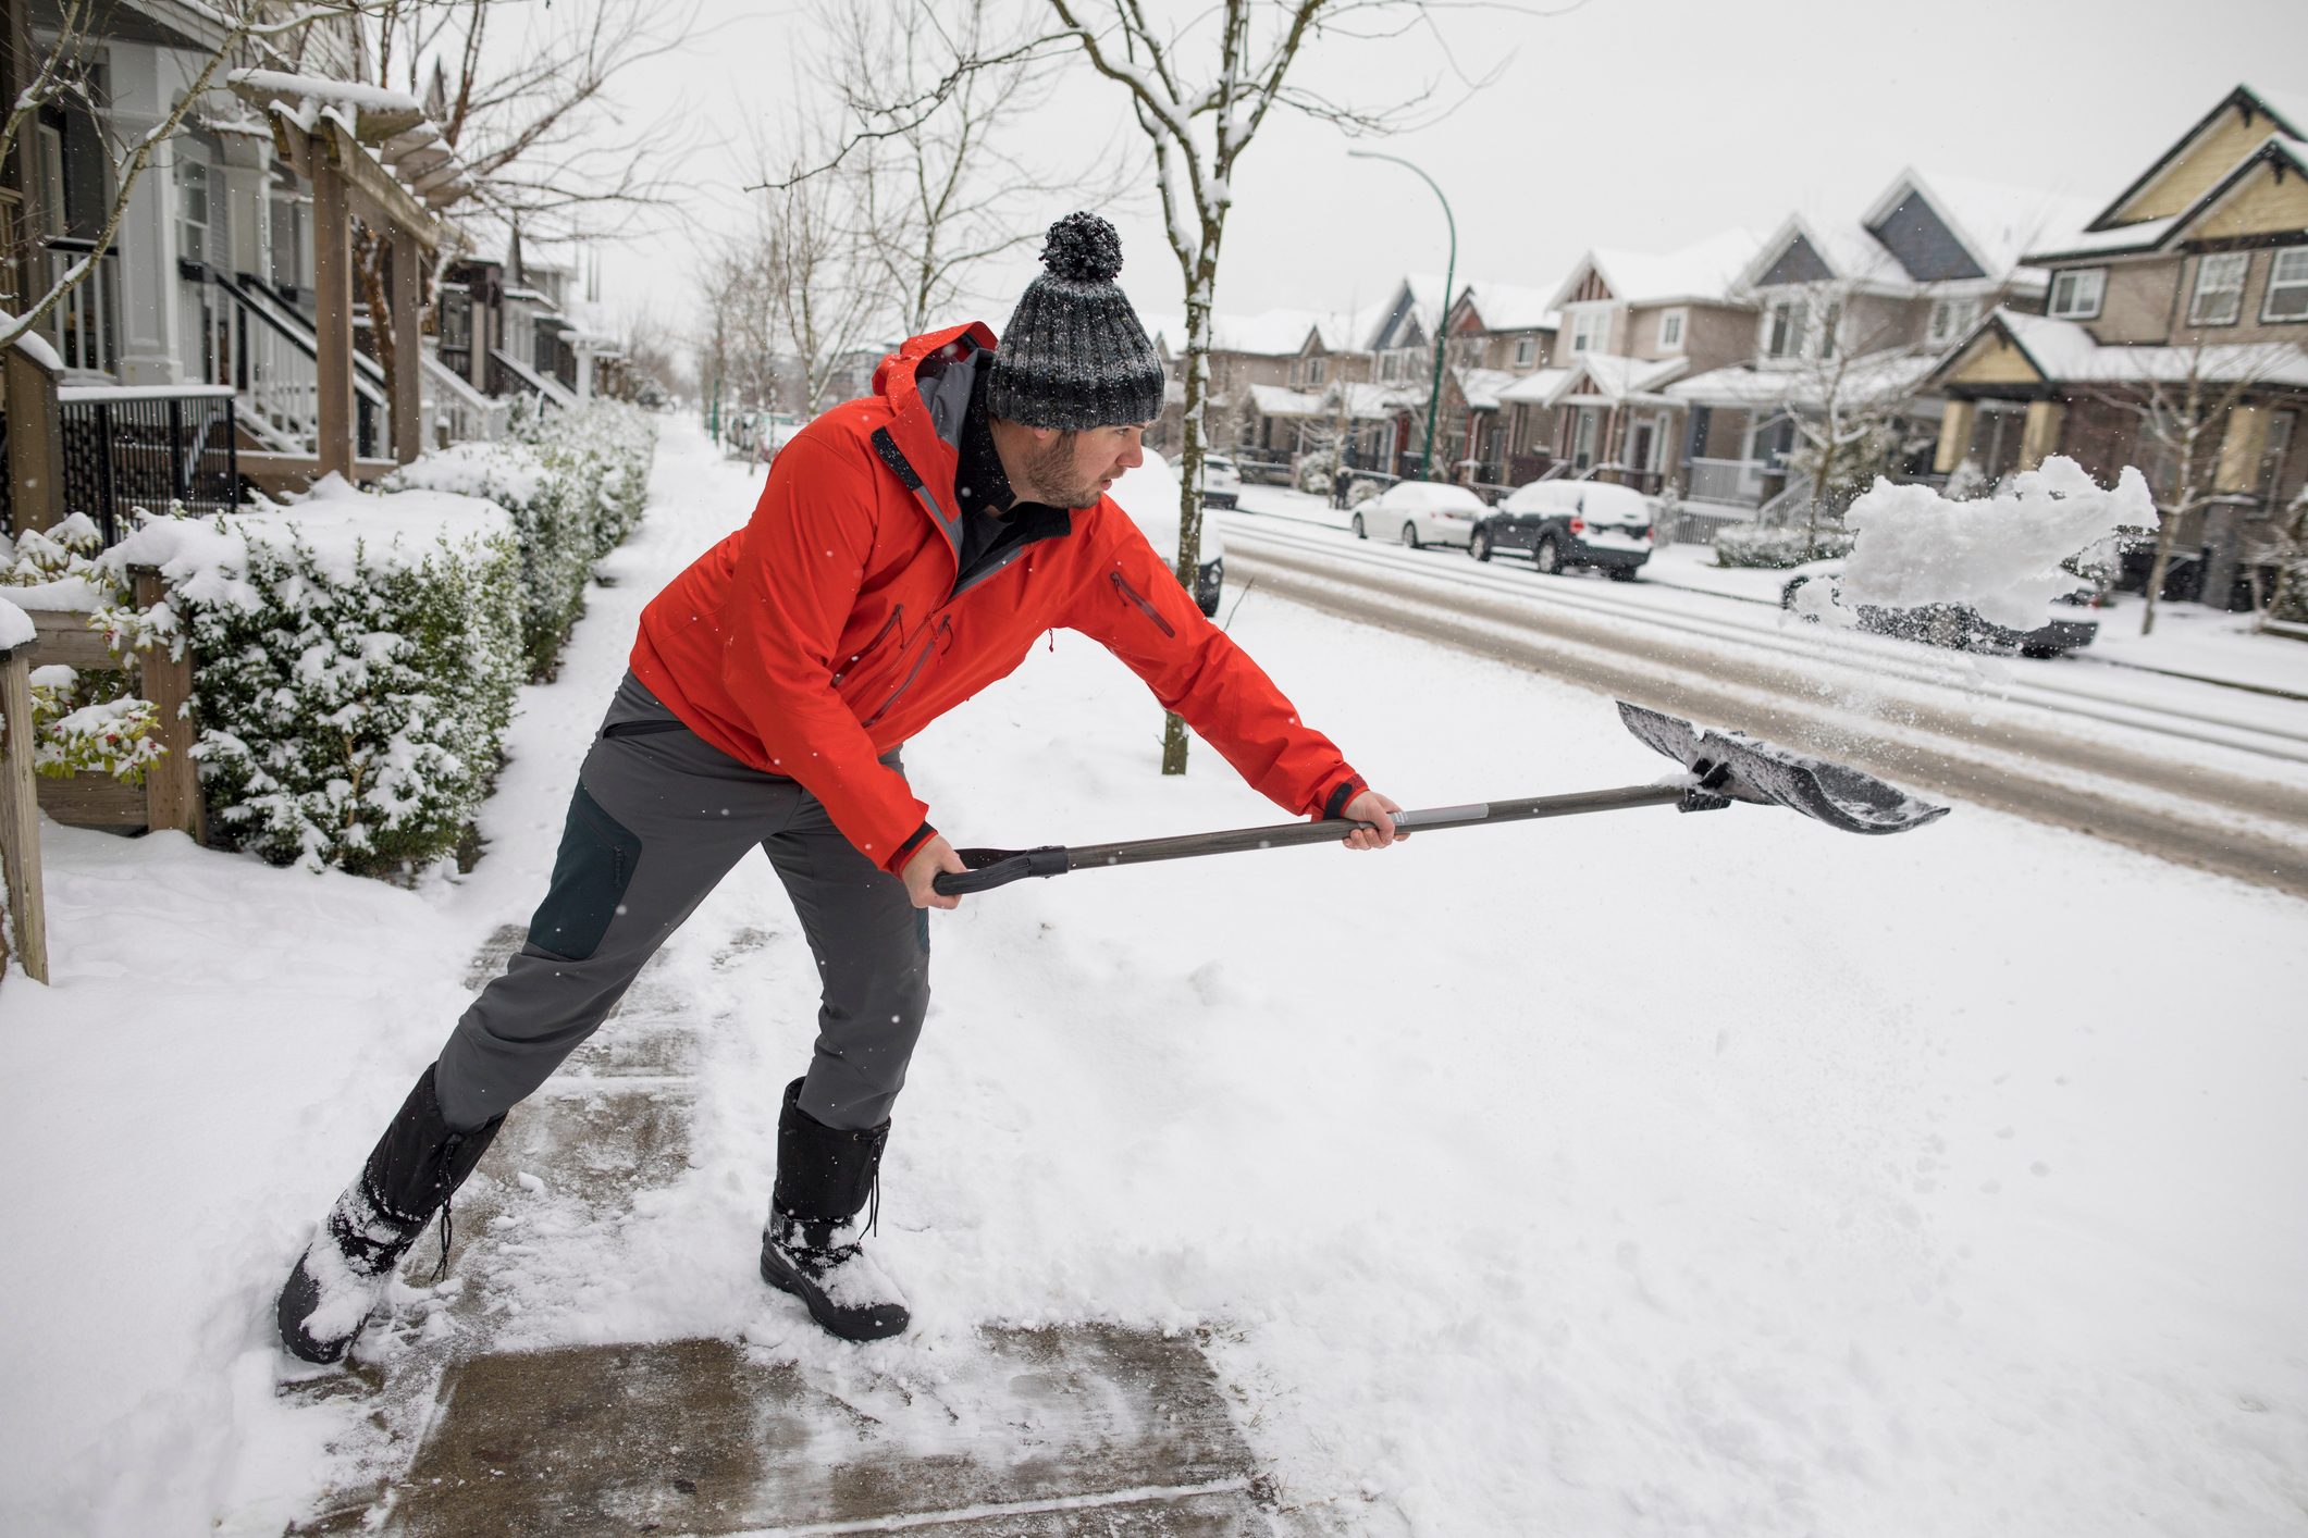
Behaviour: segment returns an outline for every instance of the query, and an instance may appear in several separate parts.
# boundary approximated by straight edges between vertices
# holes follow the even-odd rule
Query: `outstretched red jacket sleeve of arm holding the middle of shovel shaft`
[[[1339,747],[1299,722],[1274,680],[1212,625],[1129,517],[1103,505],[1106,551],[1073,595],[1066,627],[1138,673],[1166,710],[1235,766],[1267,800],[1339,816],[1364,786]]]

